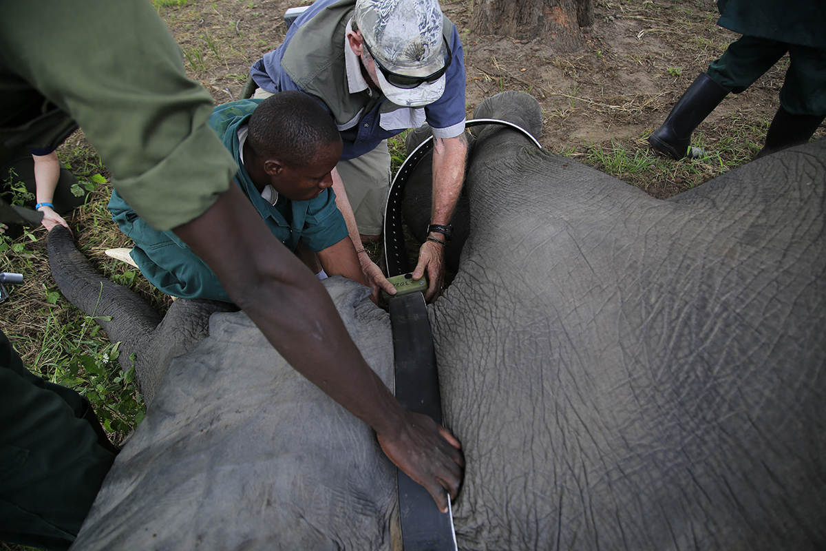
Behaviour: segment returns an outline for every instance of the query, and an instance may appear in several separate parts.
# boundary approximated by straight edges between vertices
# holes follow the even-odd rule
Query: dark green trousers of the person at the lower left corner
[[[24,368],[0,331],[0,541],[69,549],[115,460],[85,407]]]

